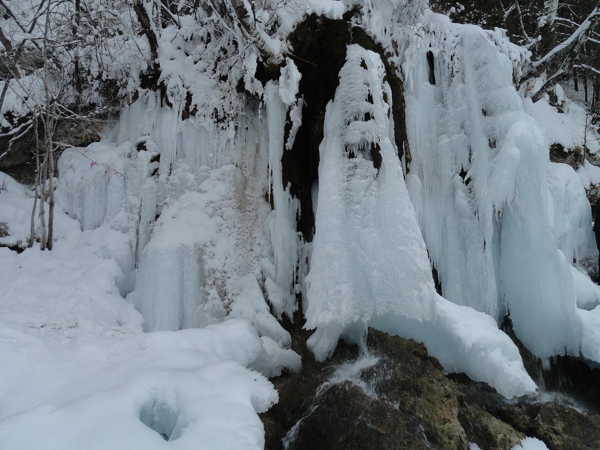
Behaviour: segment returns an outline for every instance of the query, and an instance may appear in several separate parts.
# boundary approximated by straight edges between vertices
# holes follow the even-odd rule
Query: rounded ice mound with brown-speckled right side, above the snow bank
[[[204,179],[203,179],[204,178]],[[145,329],[199,328],[223,319],[223,298],[236,254],[231,230],[241,173],[233,166],[197,172],[163,208],[142,251],[131,300]],[[221,292],[219,292],[221,291]]]

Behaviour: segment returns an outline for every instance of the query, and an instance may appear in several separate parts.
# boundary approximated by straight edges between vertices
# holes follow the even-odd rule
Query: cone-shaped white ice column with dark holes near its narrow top
[[[424,342],[447,370],[464,371],[507,397],[535,391],[517,347],[491,317],[436,293],[389,139],[384,73],[379,55],[349,46],[326,109],[305,312],[305,328],[316,331],[308,346],[322,360],[339,337],[361,343],[373,326]]]

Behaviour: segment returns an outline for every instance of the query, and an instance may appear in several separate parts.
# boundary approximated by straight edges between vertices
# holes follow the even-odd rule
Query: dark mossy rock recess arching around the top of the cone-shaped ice
[[[348,14],[351,15],[352,11]],[[325,108],[329,101],[333,100],[335,89],[339,85],[339,74],[346,62],[346,47],[349,44],[359,44],[381,56],[386,69],[386,80],[392,91],[398,157],[405,155],[407,163],[410,162],[403,83],[398,77],[397,69],[389,64],[382,47],[363,29],[358,26],[351,28],[349,19],[350,17],[344,17],[332,20],[312,14],[299,23],[289,37],[293,47],[290,56],[302,74],[298,88],[299,95],[304,98],[304,106],[302,125],[298,129],[293,146],[286,149],[281,158],[282,181],[284,187],[290,185],[290,193],[300,200],[302,214],[298,218],[297,229],[307,242],[312,241],[314,234],[312,190],[319,176],[319,145],[323,141]],[[278,76],[278,71],[272,67],[263,66],[260,71],[259,77],[265,80]],[[290,127],[288,121],[285,130],[286,141]],[[380,155],[372,152],[376,154],[373,161],[377,161]]]

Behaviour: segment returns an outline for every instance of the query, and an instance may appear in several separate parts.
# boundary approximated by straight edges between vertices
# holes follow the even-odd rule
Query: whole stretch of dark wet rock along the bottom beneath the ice
[[[379,360],[351,380],[335,367],[358,357],[340,343],[325,364],[272,380],[280,401],[262,415],[274,449],[510,450],[525,436],[548,448],[600,448],[600,416],[569,406],[508,401],[464,374],[446,376],[422,344],[370,330],[368,349]],[[306,361],[306,359],[305,359]]]

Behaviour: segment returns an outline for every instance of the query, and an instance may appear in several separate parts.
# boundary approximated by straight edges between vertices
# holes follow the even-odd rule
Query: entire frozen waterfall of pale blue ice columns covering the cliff
[[[291,318],[303,295],[319,359],[373,326],[424,341],[447,370],[506,395],[531,391],[497,322],[509,314],[538,356],[578,353],[595,316],[581,319],[575,302],[598,304],[589,278],[570,266],[595,255],[583,187],[569,167],[548,164],[544,131],[512,87],[517,47],[408,4],[386,16],[385,5],[364,20],[393,47],[382,23],[404,14],[390,30],[403,49],[391,60],[406,80],[406,184],[382,61],[352,45],[326,112],[314,242],[296,231],[302,211],[281,182],[281,157],[302,121],[292,59],[263,88],[266,111],[218,126],[202,115],[182,120],[173,103],[181,84],[164,75],[174,106],[145,93],[115,127],[116,151],[104,143],[65,152],[59,200],[83,229],[127,236],[119,287],[148,331],[245,317],[285,351],[290,337],[277,319]],[[288,364],[298,367],[295,357]]]

